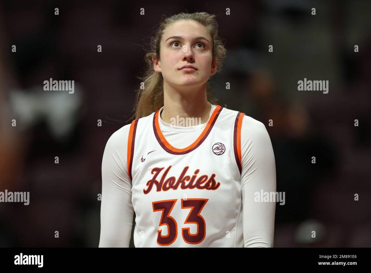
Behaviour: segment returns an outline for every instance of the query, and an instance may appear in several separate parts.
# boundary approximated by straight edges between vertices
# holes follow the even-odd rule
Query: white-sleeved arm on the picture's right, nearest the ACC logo
[[[241,163],[244,247],[273,247],[276,202],[255,202],[261,191],[276,192],[273,147],[265,125],[246,115],[241,126]]]

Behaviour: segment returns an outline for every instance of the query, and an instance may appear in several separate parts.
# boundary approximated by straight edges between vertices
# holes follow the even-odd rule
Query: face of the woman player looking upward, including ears
[[[168,26],[161,38],[160,60],[152,61],[154,70],[162,73],[164,83],[188,90],[205,84],[216,73],[217,66],[210,34],[194,20],[180,20]],[[181,69],[184,65],[196,69]]]

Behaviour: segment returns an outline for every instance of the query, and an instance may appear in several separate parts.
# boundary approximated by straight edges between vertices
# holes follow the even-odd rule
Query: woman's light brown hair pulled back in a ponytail
[[[163,78],[162,74],[155,72],[153,69],[152,56],[160,58],[160,42],[165,29],[172,23],[178,20],[195,20],[204,25],[213,38],[213,59],[217,58],[217,72],[221,70],[223,61],[226,55],[226,49],[218,36],[218,23],[216,22],[215,15],[207,12],[195,12],[195,13],[179,13],[171,17],[162,19],[155,35],[152,36],[149,45],[148,52],[144,59],[147,62],[148,68],[142,77],[138,77],[143,83],[145,88],[141,87],[137,90],[137,96],[135,100],[135,119],[146,117],[151,113],[157,111],[164,105],[164,90],[163,90]],[[211,78],[211,77],[210,77]],[[211,104],[216,104],[217,99],[211,95],[211,87],[209,81],[207,82],[206,88],[207,100]]]

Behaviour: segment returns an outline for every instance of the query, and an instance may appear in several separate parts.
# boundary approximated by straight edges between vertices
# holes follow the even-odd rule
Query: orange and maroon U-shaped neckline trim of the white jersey
[[[166,152],[171,153],[173,155],[184,155],[186,153],[192,152],[194,149],[196,149],[198,146],[200,146],[206,137],[209,135],[211,129],[213,129],[213,126],[216,122],[216,119],[218,118],[221,110],[223,107],[220,105],[216,105],[216,108],[214,109],[213,113],[211,114],[211,117],[206,124],[206,127],[204,128],[203,132],[200,134],[200,136],[188,147],[185,147],[184,149],[177,149],[173,146],[171,146],[170,143],[167,142],[165,137],[162,135],[160,125],[158,124],[158,115],[160,114],[160,109],[157,110],[157,112],[153,115],[153,131],[155,134],[155,137],[162,147]]]

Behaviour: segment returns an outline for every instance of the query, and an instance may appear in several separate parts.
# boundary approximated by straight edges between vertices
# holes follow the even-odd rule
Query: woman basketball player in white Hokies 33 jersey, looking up
[[[217,29],[214,15],[180,13],[152,38],[135,120],[105,147],[99,247],[128,247],[134,212],[135,247],[273,247],[275,202],[256,199],[276,191],[272,144],[211,98]],[[176,124],[187,118],[200,122]]]

